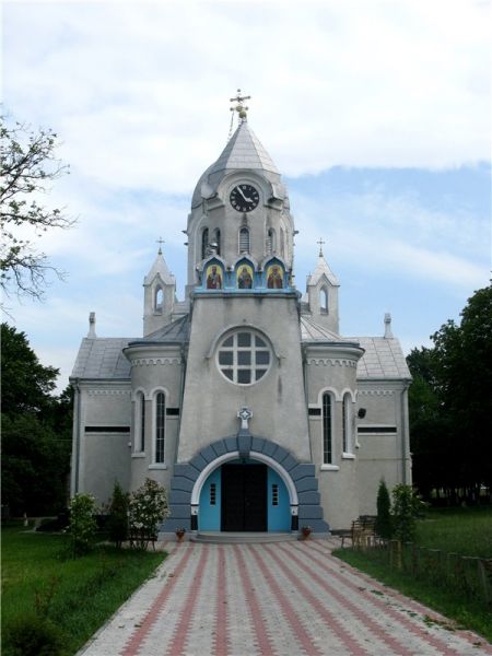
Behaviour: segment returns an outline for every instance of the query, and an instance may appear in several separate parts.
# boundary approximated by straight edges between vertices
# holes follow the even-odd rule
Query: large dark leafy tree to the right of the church
[[[432,340],[407,359],[414,482],[426,496],[444,489],[454,503],[477,501],[483,485],[492,489],[492,286]]]

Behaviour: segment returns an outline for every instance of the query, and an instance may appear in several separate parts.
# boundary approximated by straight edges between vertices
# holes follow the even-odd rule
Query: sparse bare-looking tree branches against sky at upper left
[[[7,295],[15,292],[40,300],[48,271],[63,278],[48,265],[47,256],[34,248],[32,238],[23,236],[26,229],[39,237],[49,229],[67,229],[74,223],[59,208],[38,201],[48,191],[48,183],[68,173],[68,166],[55,157],[57,139],[49,129],[36,132],[20,122],[10,127],[0,117],[0,284]]]

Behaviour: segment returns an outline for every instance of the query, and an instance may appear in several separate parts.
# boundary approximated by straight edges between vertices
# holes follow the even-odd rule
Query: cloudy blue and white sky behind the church
[[[431,345],[491,270],[491,40],[483,0],[33,1],[2,9],[3,114],[51,128],[70,175],[46,204],[77,219],[39,239],[44,303],[4,300],[68,384],[98,337],[142,335],[162,237],[186,284],[191,194],[226,144],[241,87],[288,186],[295,280],[317,242],[343,336]]]

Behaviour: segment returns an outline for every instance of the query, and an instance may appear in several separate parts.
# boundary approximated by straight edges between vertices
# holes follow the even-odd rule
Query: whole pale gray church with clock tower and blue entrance
[[[142,337],[97,338],[91,313],[71,376],[71,491],[107,502],[115,480],[155,479],[163,534],[327,534],[375,513],[382,478],[411,482],[410,373],[389,315],[382,336],[340,335],[321,250],[295,288],[288,190],[235,99],[239,125],[191,198],[185,298],[160,248]]]

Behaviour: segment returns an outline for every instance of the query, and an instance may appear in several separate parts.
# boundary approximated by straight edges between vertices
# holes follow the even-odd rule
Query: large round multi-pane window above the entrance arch
[[[216,363],[227,380],[236,385],[253,385],[268,372],[271,350],[266,339],[256,331],[238,330],[220,343]]]

